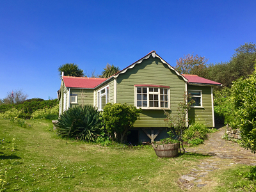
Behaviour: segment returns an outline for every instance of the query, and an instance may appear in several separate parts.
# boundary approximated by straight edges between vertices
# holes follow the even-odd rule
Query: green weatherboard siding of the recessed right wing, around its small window
[[[189,109],[189,124],[198,122],[207,127],[213,127],[212,124],[212,97],[211,86],[192,86],[188,85],[188,90],[202,90],[202,107]]]

